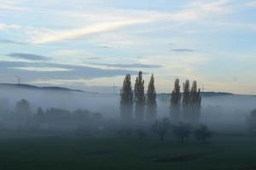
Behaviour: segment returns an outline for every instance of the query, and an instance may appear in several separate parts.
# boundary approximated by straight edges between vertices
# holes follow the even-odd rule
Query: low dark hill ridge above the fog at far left
[[[38,87],[29,84],[12,84],[12,83],[0,83],[0,88],[23,88],[23,89],[36,89],[36,90],[54,90],[54,91],[73,91],[84,92],[79,89],[61,88],[61,87]]]

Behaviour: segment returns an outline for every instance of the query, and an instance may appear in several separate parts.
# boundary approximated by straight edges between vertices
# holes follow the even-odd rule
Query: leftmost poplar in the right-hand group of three
[[[171,108],[170,108],[170,116],[171,121],[178,121],[180,114],[180,103],[181,103],[181,93],[180,93],[180,85],[179,79],[177,78],[174,82],[174,88],[172,90],[172,98],[171,98]]]

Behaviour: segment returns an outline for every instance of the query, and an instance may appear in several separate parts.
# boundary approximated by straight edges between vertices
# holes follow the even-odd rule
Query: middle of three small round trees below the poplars
[[[183,142],[184,139],[189,138],[191,126],[187,123],[178,122],[177,125],[172,128],[172,131],[174,135]]]

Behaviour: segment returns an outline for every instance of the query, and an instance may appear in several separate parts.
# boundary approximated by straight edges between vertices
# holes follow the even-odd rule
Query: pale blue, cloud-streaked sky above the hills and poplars
[[[256,94],[256,1],[0,0],[0,82],[111,92],[154,73]]]

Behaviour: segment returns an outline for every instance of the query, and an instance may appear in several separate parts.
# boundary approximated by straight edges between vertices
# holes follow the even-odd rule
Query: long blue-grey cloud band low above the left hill
[[[49,74],[50,71],[50,74]],[[24,81],[49,79],[91,79],[100,77],[117,77],[130,73],[137,74],[137,71],[125,69],[102,69],[92,66],[60,65],[53,63],[30,63],[18,61],[0,61],[0,77],[22,77]]]

